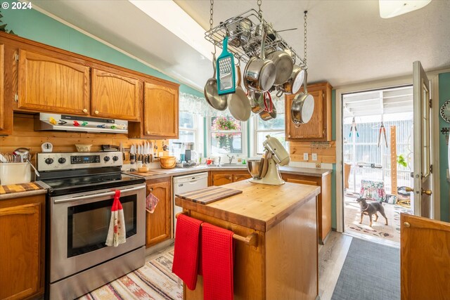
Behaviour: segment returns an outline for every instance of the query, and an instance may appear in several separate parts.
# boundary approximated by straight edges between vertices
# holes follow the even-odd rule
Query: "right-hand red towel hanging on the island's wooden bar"
[[[203,299],[233,300],[233,232],[203,223]]]

